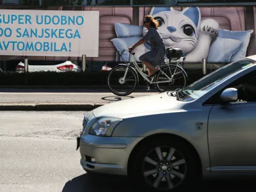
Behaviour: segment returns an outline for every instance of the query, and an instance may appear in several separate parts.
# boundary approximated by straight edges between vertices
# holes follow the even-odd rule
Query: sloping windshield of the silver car
[[[180,90],[178,92],[179,99],[186,102],[198,99],[230,76],[239,73],[244,68],[250,67],[255,62],[256,61],[244,59],[225,65],[195,83],[190,84],[183,90]]]

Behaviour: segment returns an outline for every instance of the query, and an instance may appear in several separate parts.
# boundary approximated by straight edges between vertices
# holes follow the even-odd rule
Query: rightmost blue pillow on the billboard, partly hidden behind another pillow
[[[229,31],[226,29],[220,29],[218,37],[220,38],[232,38],[234,40],[240,40],[242,42],[240,49],[231,57],[230,61],[241,60],[246,56],[248,44],[250,42],[250,36],[253,30],[248,31]]]

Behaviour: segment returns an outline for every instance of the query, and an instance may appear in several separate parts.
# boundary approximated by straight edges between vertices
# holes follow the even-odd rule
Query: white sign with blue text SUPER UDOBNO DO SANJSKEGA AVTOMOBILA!
[[[0,54],[99,56],[99,12],[1,10]]]

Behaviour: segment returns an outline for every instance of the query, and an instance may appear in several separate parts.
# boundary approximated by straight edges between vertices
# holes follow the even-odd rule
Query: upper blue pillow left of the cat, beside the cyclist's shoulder
[[[143,36],[143,26],[115,23],[115,31],[117,37]]]

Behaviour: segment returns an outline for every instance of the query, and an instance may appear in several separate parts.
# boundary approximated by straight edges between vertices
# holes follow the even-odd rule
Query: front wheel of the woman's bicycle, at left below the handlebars
[[[113,68],[108,76],[108,87],[112,93],[118,96],[130,95],[136,88],[137,76],[132,68],[128,68],[124,78],[126,66]]]

